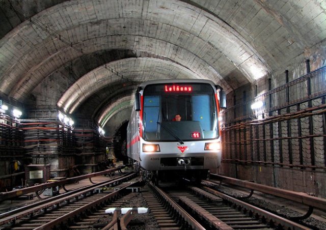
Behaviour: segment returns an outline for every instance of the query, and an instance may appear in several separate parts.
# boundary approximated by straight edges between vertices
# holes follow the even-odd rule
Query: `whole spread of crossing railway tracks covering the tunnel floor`
[[[1,229],[309,229],[206,186],[140,183],[135,174],[52,197],[15,214],[0,215]],[[105,187],[107,189],[103,189]],[[53,200],[52,200],[53,199]],[[44,201],[43,201],[44,202]],[[121,214],[123,208],[133,208]],[[147,220],[135,207],[148,208]],[[116,209],[114,215],[105,211]],[[142,216],[143,215],[143,216]],[[142,217],[141,217],[142,216]],[[152,221],[148,224],[149,220]],[[146,224],[145,224],[146,222]],[[129,224],[130,225],[130,224]],[[130,227],[128,226],[128,229]]]

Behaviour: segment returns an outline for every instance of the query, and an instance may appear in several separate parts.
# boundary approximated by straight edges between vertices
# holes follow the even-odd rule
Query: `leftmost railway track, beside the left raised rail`
[[[79,217],[85,216],[90,210],[127,194],[129,188],[139,183],[138,180],[130,182],[135,177],[136,174],[131,172],[114,180],[97,183],[4,213],[0,215],[0,227],[16,230],[67,229],[67,226],[77,222]],[[125,181],[128,183],[124,183]],[[105,187],[115,187],[116,191],[100,192]]]

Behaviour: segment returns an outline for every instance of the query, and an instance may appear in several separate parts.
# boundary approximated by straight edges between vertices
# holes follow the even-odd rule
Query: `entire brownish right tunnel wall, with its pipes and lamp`
[[[261,94],[223,111],[218,173],[325,198],[326,67],[292,80],[283,74],[278,85],[263,79]],[[263,106],[252,109],[257,101]]]

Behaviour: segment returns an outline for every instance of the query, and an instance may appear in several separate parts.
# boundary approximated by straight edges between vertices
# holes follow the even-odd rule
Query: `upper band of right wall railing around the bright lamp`
[[[234,122],[256,119],[258,116],[266,118],[275,114],[288,113],[293,105],[303,102],[319,103],[317,98],[326,94],[326,67],[320,68],[301,78],[288,82],[274,90],[270,90],[252,100],[239,103],[223,111],[224,126]],[[261,101],[263,106],[252,109],[251,105]],[[284,110],[285,109],[285,110]]]

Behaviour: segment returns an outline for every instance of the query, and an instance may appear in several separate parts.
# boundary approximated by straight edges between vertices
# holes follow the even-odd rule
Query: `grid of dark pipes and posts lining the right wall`
[[[226,109],[223,160],[325,170],[325,101],[323,67]]]

